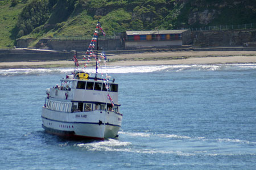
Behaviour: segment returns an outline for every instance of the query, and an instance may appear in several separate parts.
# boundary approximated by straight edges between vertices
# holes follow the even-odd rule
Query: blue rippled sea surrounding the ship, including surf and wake
[[[42,128],[46,88],[71,71],[0,70],[0,169],[255,169],[255,64],[108,67],[123,122],[105,141]]]

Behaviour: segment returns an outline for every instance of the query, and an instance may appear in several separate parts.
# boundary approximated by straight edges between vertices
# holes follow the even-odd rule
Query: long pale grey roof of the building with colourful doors
[[[172,34],[183,33],[188,29],[174,29],[174,30],[154,30],[154,31],[126,31],[127,35],[153,35],[153,34]]]

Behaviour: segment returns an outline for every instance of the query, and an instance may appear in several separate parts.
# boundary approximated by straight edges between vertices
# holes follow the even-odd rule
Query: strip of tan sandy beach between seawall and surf
[[[181,51],[108,55],[109,66],[256,63],[255,51]],[[84,65],[86,61],[79,61]],[[71,67],[70,61],[0,62],[0,69]]]

